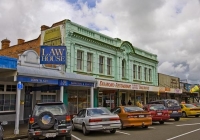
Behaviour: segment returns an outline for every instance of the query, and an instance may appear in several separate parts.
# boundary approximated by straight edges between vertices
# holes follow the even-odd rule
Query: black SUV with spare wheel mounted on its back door
[[[71,140],[70,115],[62,102],[37,103],[29,117],[28,139],[64,137]]]

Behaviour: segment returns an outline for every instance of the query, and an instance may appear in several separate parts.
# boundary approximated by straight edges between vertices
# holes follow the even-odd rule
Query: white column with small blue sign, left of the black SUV
[[[21,95],[21,89],[18,88],[18,84],[21,84],[21,82],[17,83],[17,97],[16,97],[16,116],[15,116],[15,130],[14,134],[19,134],[19,113],[20,113],[20,95]]]

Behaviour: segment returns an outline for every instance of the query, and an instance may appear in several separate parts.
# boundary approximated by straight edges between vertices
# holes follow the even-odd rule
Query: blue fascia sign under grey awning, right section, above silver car
[[[77,81],[68,81],[68,80],[59,80],[60,86],[85,86],[85,87],[94,87],[94,83],[89,82],[77,82]]]

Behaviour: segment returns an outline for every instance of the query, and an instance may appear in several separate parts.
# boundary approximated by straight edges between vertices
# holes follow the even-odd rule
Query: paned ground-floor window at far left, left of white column
[[[16,94],[0,94],[0,111],[15,111]]]

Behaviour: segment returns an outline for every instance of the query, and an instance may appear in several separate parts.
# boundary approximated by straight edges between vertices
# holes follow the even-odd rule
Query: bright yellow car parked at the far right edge
[[[200,116],[200,107],[196,107],[193,104],[181,104],[181,111],[183,117]]]

